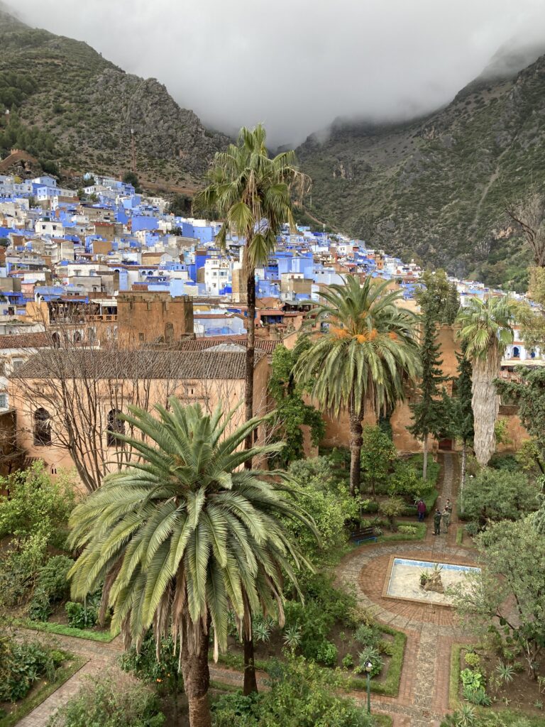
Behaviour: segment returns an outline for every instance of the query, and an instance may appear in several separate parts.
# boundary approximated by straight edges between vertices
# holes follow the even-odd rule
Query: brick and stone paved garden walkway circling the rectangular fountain
[[[454,499],[454,475],[457,459],[451,454],[440,455],[443,461],[440,505],[447,497]],[[448,680],[451,646],[467,640],[456,624],[451,608],[420,605],[383,598],[382,587],[389,558],[392,554],[408,558],[446,560],[471,563],[468,550],[456,547],[456,515],[448,534],[434,537],[431,515],[427,518],[427,535],[422,542],[395,542],[392,545],[363,545],[347,555],[337,571],[337,580],[355,589],[360,606],[371,611],[382,623],[403,630],[407,635],[405,659],[397,697],[371,696],[372,709],[392,716],[394,727],[421,727],[439,725],[448,712]],[[37,632],[29,632],[37,635]],[[38,634],[44,637],[44,634]],[[105,670],[116,670],[117,658],[123,651],[121,638],[111,643],[100,643],[69,636],[48,635],[60,648],[84,656],[86,664],[65,684],[51,694],[17,727],[45,727],[49,716],[76,694],[87,676]],[[242,686],[242,674],[217,665],[211,665],[212,680]],[[258,676],[258,683],[264,675]],[[366,695],[353,692],[353,698],[362,706]]]

